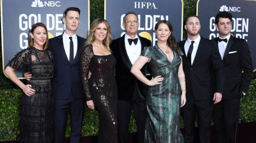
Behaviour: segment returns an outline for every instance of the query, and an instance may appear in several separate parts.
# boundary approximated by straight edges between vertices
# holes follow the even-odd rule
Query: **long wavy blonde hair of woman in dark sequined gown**
[[[107,25],[107,30],[108,30],[108,33],[107,33],[107,36],[106,38],[103,40],[103,45],[105,45],[108,50],[113,53],[111,51],[111,49],[109,48],[109,44],[111,43],[113,37],[111,37],[111,29],[110,29],[110,25],[108,24],[108,22],[105,20],[105,19],[102,19],[102,18],[97,18],[96,20],[94,20],[91,24],[91,28],[90,28],[90,31],[89,31],[89,35],[88,35],[88,38],[86,40],[86,42],[84,43],[84,45],[89,45],[89,44],[92,44],[93,41],[94,41],[94,31],[97,29],[98,25],[101,24],[101,23],[105,23]]]

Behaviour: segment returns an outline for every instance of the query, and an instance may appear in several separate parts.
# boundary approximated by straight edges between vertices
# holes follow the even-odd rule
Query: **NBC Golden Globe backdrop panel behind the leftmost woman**
[[[62,18],[69,7],[81,10],[76,34],[86,38],[90,24],[89,0],[1,0],[3,71],[18,52],[28,47],[33,24],[44,23],[49,38],[61,35],[65,30]],[[22,72],[14,72],[24,77]]]

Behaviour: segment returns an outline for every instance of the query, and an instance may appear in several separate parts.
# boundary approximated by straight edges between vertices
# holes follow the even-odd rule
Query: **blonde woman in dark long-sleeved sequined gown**
[[[111,30],[104,19],[92,22],[81,52],[81,80],[87,106],[99,111],[98,143],[117,143],[116,59],[109,48]],[[88,73],[91,78],[88,80]]]

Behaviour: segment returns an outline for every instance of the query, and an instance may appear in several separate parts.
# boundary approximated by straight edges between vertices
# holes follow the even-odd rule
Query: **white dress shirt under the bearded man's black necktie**
[[[198,38],[194,40],[195,42],[193,44],[193,51],[192,51],[192,54],[191,54],[191,65],[194,62],[194,59],[195,59],[195,56],[196,56],[196,53],[197,53],[197,49],[198,49],[198,45],[199,45],[200,39],[201,39],[201,37],[199,35]],[[187,41],[186,41],[186,43],[184,45],[184,50],[185,50],[186,56],[187,56],[187,52],[188,52],[189,46],[191,45],[191,41],[192,40],[187,38]]]

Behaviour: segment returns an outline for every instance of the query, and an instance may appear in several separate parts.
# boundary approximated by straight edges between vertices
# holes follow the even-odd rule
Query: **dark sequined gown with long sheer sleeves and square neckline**
[[[98,143],[117,143],[116,58],[113,54],[94,55],[93,46],[86,45],[80,60],[86,101],[93,100],[99,111]],[[89,70],[92,75],[87,80]]]

